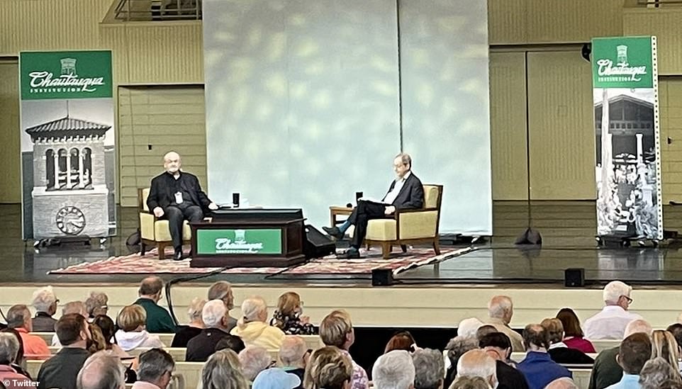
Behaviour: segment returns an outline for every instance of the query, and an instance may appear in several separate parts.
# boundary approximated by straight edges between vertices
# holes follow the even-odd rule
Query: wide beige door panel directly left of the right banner
[[[529,52],[528,74],[531,198],[596,198],[589,62],[576,52]]]

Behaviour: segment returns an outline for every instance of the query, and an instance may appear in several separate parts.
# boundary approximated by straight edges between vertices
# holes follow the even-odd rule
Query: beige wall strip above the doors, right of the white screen
[[[622,0],[488,0],[488,41],[576,43],[621,35],[622,6]]]

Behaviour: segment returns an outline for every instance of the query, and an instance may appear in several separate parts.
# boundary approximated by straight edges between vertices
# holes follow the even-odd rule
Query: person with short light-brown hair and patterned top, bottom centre
[[[367,372],[353,361],[348,350],[355,342],[355,331],[350,315],[345,310],[335,310],[320,322],[320,339],[326,346],[338,347],[353,364],[352,389],[365,389],[369,385]]]

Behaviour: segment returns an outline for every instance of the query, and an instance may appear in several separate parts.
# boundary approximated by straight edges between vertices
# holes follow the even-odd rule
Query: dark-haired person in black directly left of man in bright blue
[[[479,347],[495,359],[498,389],[527,389],[525,376],[508,364],[511,355],[511,342],[502,332],[487,334],[479,340]]]

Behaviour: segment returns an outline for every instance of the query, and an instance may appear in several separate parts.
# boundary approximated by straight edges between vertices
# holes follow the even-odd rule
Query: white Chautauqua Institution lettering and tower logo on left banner
[[[94,92],[98,86],[104,86],[104,77],[79,77],[76,72],[75,58],[62,58],[62,71],[59,77],[52,72],[41,70],[30,72],[31,94],[59,92]]]

